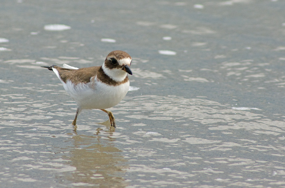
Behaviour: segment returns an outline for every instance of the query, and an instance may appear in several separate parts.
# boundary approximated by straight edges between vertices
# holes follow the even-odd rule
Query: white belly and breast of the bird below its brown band
[[[105,109],[118,104],[129,90],[129,81],[118,86],[109,86],[102,82],[64,86],[77,105],[84,109]]]

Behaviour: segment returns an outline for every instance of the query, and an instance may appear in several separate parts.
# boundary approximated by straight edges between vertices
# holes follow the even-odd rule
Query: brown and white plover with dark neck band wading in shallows
[[[76,126],[77,116],[83,109],[100,109],[109,116],[111,127],[116,127],[111,108],[117,105],[129,90],[128,74],[133,75],[131,56],[124,51],[110,52],[102,66],[77,68],[63,64],[42,66],[52,70],[63,84],[66,92],[77,104],[72,125]]]

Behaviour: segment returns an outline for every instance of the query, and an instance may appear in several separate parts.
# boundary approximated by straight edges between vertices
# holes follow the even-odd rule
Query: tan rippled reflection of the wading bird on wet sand
[[[96,130],[92,136],[74,135],[68,139],[71,149],[63,154],[63,159],[70,169],[75,167],[76,170],[72,170],[70,176],[62,176],[64,182],[67,180],[79,187],[126,187],[124,169],[129,166],[122,150],[114,147],[116,138],[112,138],[110,130]]]

